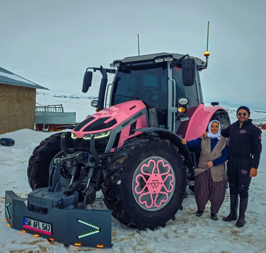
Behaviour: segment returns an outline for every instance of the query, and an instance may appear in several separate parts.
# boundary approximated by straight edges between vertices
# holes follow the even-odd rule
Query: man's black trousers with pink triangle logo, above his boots
[[[227,176],[230,193],[238,195],[240,198],[248,198],[248,190],[251,182],[250,170],[252,156],[231,157],[227,162]]]

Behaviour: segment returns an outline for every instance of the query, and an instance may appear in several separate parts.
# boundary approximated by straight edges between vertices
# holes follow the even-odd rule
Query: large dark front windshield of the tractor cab
[[[168,108],[167,63],[119,67],[112,105],[141,100],[149,108],[166,112]]]

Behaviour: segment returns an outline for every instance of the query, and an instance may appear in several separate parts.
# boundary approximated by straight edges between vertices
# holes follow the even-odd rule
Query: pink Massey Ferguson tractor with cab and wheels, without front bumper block
[[[207,57],[204,62],[188,54],[158,53],[115,60],[110,67],[86,69],[84,93],[92,84],[88,69],[102,74],[98,101],[91,103],[96,113],[34,149],[30,187],[47,187],[60,158],[65,194],[78,192],[72,206],[87,208],[101,190],[106,207],[124,225],[165,227],[182,210],[186,187],[193,190],[199,160],[200,150],[182,145],[181,137],[199,137],[213,119],[226,128],[228,113],[218,102],[203,103],[200,71],[207,68]],[[108,86],[107,73],[114,74]]]

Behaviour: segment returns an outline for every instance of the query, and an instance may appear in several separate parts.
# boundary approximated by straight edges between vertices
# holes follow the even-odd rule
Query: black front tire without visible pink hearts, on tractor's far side
[[[68,132],[65,132],[65,134]],[[49,168],[55,156],[63,154],[61,150],[61,132],[42,140],[35,147],[30,156],[27,168],[28,182],[32,190],[47,187],[49,182]],[[68,148],[74,148],[70,134],[66,134],[65,143]]]

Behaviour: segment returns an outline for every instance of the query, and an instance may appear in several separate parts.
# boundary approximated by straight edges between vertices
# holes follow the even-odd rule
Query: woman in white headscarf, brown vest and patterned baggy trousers
[[[217,213],[225,199],[226,172],[225,162],[228,160],[227,139],[221,136],[221,126],[218,121],[211,121],[208,126],[207,138],[200,137],[182,143],[189,147],[201,147],[198,167],[195,169],[195,199],[201,216],[207,202],[211,202],[211,218],[218,220]]]

